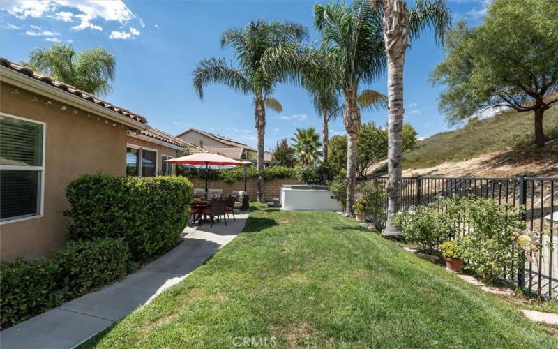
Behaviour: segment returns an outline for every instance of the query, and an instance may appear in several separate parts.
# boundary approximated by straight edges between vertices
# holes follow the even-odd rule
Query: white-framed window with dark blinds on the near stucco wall
[[[45,124],[0,113],[0,221],[43,214]]]

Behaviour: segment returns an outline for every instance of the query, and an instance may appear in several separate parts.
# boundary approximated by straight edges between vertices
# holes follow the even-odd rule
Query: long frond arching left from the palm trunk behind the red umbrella
[[[224,58],[202,59],[194,68],[192,76],[193,87],[199,99],[202,100],[204,98],[204,86],[213,82],[225,84],[242,94],[248,94],[252,91],[252,85],[243,72],[229,66]]]

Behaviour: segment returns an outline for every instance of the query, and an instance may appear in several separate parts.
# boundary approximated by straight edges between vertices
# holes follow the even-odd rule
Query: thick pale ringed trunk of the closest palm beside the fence
[[[388,57],[388,215],[382,235],[400,235],[393,227],[395,213],[401,209],[401,165],[403,138],[403,66],[407,50],[409,19],[405,1],[385,0],[384,42]]]

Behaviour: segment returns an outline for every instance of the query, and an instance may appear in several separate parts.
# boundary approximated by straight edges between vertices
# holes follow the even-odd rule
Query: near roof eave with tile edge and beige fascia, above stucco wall
[[[107,101],[96,98],[96,96],[93,96],[92,94],[76,89],[69,84],[64,84],[63,82],[54,80],[52,77],[48,77],[47,75],[36,73],[27,66],[15,64],[8,59],[0,57],[0,68],[2,72],[0,74],[1,81],[6,81],[10,84],[17,84],[19,87],[29,89],[33,92],[38,89],[43,94],[52,93],[53,96],[48,97],[62,98],[66,99],[65,102],[68,104],[74,103],[80,107],[89,107],[90,110],[88,111],[91,112],[104,112],[106,116],[110,117],[110,119],[120,121],[123,124],[128,124],[130,126],[133,125],[141,129],[149,127],[145,125],[147,121],[140,114],[112,105]]]

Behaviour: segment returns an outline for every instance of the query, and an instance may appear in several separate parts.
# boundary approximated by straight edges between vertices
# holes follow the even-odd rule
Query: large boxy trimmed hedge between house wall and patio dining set
[[[85,174],[66,188],[68,234],[73,240],[123,238],[133,260],[144,262],[178,242],[192,195],[183,177]]]

